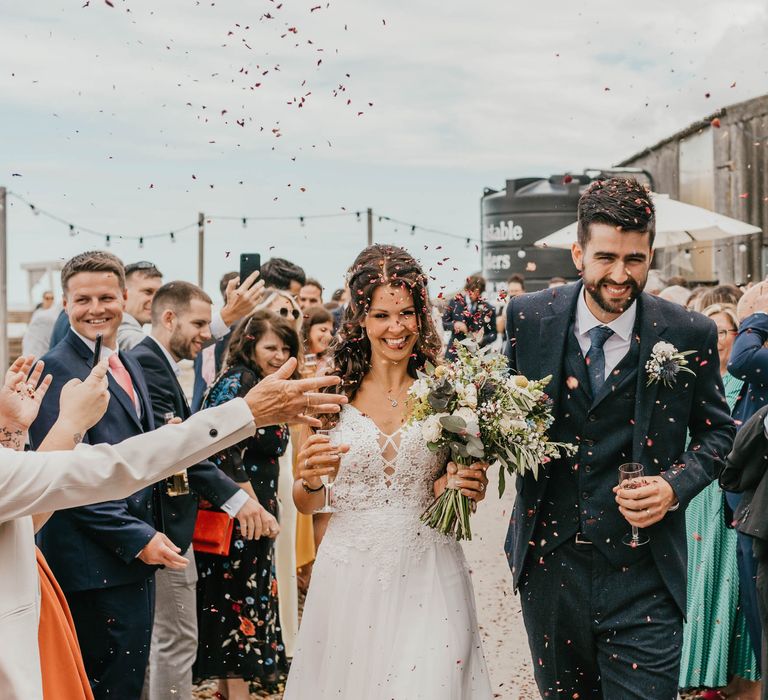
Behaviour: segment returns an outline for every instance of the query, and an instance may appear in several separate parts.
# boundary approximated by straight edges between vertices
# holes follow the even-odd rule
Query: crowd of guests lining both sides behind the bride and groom
[[[103,251],[69,260],[61,281],[64,308],[48,294],[24,339],[25,353],[42,356],[52,375],[29,428],[32,449],[41,449],[59,422],[70,380],[90,376],[96,333],[103,337],[96,359],[108,366],[113,400],[83,441],[114,445],[248,396],[290,358],[297,360],[293,379],[323,376],[349,301],[344,289],[325,301],[317,280],[279,258],[258,278],[224,275],[218,309],[194,284],[164,283],[155,264],[123,265]],[[549,286],[562,284],[558,277]],[[743,425],[768,398],[768,284],[689,289],[683,278],[663,284],[655,277],[646,290],[716,324],[726,398]],[[465,338],[500,346],[505,299],[526,291],[524,277],[513,275],[489,299],[483,277],[470,275],[450,300],[434,300],[446,357]],[[190,401],[181,384],[185,360],[194,367]],[[61,586],[87,679],[81,695],[46,698],[190,698],[193,682],[215,679],[220,697],[242,700],[252,684],[270,689],[285,678],[298,592],[309,585],[328,517],[296,513],[290,497],[296,445],[307,430],[262,425],[127,498],[36,522],[41,570]],[[715,482],[686,511],[680,687],[710,700],[761,692],[765,609],[752,538],[733,527],[739,498]],[[205,511],[231,518],[225,551],[195,551]]]

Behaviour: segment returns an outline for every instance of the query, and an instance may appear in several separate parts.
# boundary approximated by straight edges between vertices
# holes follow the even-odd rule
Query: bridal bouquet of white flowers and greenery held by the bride
[[[448,448],[457,465],[498,462],[501,497],[505,472],[530,470],[538,478],[540,464],[575,451],[547,437],[553,418],[544,387],[551,376],[537,381],[510,376],[503,355],[479,350],[471,340],[456,348],[456,360],[438,367],[428,364],[408,391],[410,421],[422,422],[422,436],[432,452]],[[446,489],[421,520],[457,540],[471,540],[471,510],[459,490]]]

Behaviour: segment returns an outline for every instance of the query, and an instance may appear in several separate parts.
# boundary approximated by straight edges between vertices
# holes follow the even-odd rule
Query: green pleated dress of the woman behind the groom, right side
[[[733,405],[742,382],[723,376]],[[688,621],[683,630],[681,688],[721,688],[733,675],[759,680],[739,605],[736,531],[725,526],[723,492],[715,481],[685,511],[688,531]]]

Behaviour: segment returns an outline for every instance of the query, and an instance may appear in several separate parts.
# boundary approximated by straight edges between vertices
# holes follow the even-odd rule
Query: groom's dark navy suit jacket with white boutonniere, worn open
[[[532,379],[551,374],[552,381],[546,391],[555,407],[566,379],[563,360],[567,333],[582,289],[581,282],[577,282],[509,301],[506,353],[510,367]],[[723,393],[715,324],[704,316],[645,293],[638,298],[638,314],[640,371],[634,387],[632,461],[643,464],[647,475],[661,475],[666,479],[680,502],[680,508],[648,528],[648,534],[661,577],[685,614],[685,508],[720,472],[736,429]],[[660,382],[647,385],[645,363],[653,346],[662,340],[681,352],[697,351],[688,357],[695,376],[680,375],[671,387]],[[556,422],[557,419],[556,408]],[[686,429],[691,434],[688,450],[685,449]],[[527,564],[529,540],[536,524],[535,518],[523,516],[531,509],[538,510],[549,467],[542,465],[538,480],[530,473],[516,479],[517,498],[507,543],[515,586]],[[605,488],[613,488],[617,478],[613,471]]]

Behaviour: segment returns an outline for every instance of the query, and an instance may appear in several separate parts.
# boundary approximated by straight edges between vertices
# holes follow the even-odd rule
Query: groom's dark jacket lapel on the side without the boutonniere
[[[544,388],[552,405],[557,410],[563,382],[563,364],[568,351],[568,329],[573,319],[576,301],[581,294],[582,285],[578,282],[566,287],[558,287],[552,293],[549,303],[549,315],[539,324],[538,347],[531,348],[539,356],[539,376],[537,379],[552,375],[552,380]]]

